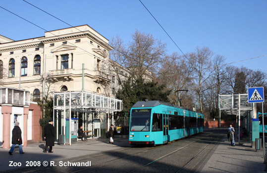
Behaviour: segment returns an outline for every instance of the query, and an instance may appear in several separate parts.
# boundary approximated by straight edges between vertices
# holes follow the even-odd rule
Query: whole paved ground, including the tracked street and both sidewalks
[[[116,139],[115,145],[107,138],[78,141],[68,146],[56,145],[54,153],[42,153],[42,145],[24,147],[25,154],[17,151],[12,156],[0,149],[1,173],[246,173],[265,170],[263,151],[247,145],[229,146],[223,130],[207,131],[160,146],[138,147],[128,139]],[[195,159],[192,159],[195,157]],[[191,160],[192,159],[192,160]],[[9,161],[21,162],[21,167],[10,167]],[[25,167],[27,161],[40,162],[40,167]],[[44,167],[44,161],[49,166]],[[190,163],[189,163],[190,162]],[[50,166],[51,164],[56,166]],[[60,164],[91,164],[90,166],[60,166]],[[181,169],[182,168],[182,169]]]

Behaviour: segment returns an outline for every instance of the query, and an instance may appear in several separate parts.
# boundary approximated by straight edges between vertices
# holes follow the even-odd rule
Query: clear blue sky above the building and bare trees
[[[152,34],[179,49],[139,0],[27,0],[72,26],[88,24],[108,40],[131,34]],[[267,0],[142,0],[184,52],[207,46],[226,63],[267,55]],[[48,30],[69,26],[23,0],[0,0],[0,6]],[[0,35],[15,41],[42,37],[45,31],[0,8]],[[267,71],[267,56],[234,66]]]

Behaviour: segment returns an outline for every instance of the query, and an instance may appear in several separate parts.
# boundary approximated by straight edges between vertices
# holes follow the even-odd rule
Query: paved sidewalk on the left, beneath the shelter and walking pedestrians
[[[9,155],[9,149],[0,148],[0,172],[18,168],[25,168],[27,161],[36,163],[40,162],[42,165],[44,161],[62,161],[66,159],[73,160],[75,157],[84,155],[92,155],[104,151],[123,150],[125,147],[130,147],[128,138],[115,138],[114,144],[108,143],[108,138],[95,138],[88,141],[78,141],[73,145],[57,145],[53,147],[53,153],[43,153],[45,143],[30,144],[23,147],[25,154],[19,154],[18,147],[15,148],[13,155]],[[71,161],[70,160],[70,161]],[[21,163],[21,166],[9,166],[10,161],[13,163]],[[35,163],[35,164],[36,164]]]

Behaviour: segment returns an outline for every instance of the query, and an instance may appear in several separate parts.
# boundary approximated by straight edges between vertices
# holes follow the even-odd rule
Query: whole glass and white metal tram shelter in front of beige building
[[[77,127],[89,137],[105,137],[113,112],[122,110],[122,100],[86,91],[64,91],[54,93],[53,122],[56,141],[64,144],[77,141]],[[70,140],[71,139],[71,140]]]

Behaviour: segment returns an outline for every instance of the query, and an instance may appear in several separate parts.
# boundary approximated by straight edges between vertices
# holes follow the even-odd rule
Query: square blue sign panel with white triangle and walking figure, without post
[[[264,102],[264,87],[249,87],[248,98],[249,103]]]

